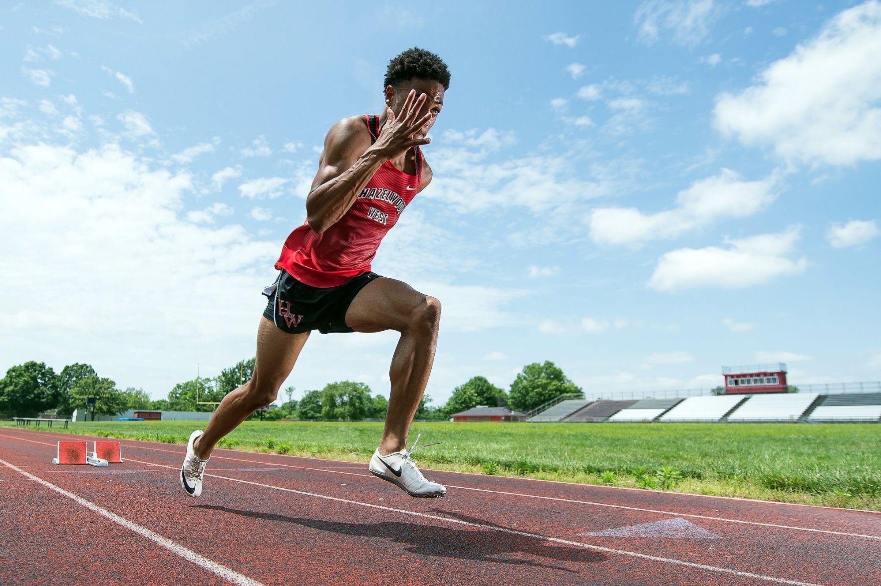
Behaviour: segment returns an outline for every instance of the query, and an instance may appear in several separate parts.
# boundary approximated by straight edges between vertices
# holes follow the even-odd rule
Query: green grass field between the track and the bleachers
[[[99,421],[51,430],[182,444],[204,424]],[[366,421],[246,421],[220,447],[366,465],[381,430]],[[442,470],[881,510],[881,425],[871,423],[440,421],[414,423],[411,441],[417,433],[420,443],[443,442],[416,454],[420,465]]]

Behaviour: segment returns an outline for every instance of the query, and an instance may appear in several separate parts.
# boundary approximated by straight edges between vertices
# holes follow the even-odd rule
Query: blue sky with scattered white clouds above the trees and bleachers
[[[589,392],[881,378],[874,0],[4,4],[0,370],[159,398],[253,355],[324,134],[413,46],[452,82],[374,270],[441,299],[436,402],[544,360]],[[315,333],[285,385],[388,395],[395,343]]]

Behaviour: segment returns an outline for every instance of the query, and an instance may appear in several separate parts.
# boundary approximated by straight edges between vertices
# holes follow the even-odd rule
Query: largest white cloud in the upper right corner
[[[881,158],[881,3],[840,12],[814,39],[772,63],[756,84],[716,99],[714,123],[792,163]]]

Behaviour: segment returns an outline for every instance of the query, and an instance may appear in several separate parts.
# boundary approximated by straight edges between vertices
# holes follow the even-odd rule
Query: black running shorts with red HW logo
[[[381,275],[368,271],[352,277],[338,287],[319,289],[309,287],[286,271],[280,270],[276,281],[263,289],[263,295],[270,300],[263,311],[263,317],[287,333],[312,330],[321,333],[354,332],[355,330],[345,325],[345,312],[349,310],[349,305],[358,292],[368,282],[378,278]]]

